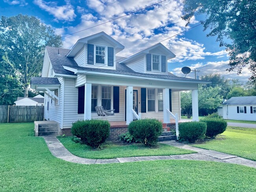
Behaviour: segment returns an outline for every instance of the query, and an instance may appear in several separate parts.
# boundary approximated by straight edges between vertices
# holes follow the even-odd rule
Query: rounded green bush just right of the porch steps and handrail
[[[197,142],[205,137],[206,123],[204,122],[184,122],[179,124],[180,138],[188,140],[191,143]]]

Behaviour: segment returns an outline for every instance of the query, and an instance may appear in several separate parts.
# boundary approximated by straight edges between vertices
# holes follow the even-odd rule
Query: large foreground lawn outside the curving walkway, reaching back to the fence
[[[0,124],[1,192],[256,191],[256,169],[219,162],[167,160],[75,164],[51,155],[33,124]]]

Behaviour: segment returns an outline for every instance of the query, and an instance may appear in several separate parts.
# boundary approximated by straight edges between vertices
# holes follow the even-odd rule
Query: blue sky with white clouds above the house
[[[19,13],[33,15],[43,23],[51,26],[62,36],[85,28],[95,26],[124,14],[150,6],[156,0],[0,0],[0,13],[14,16]],[[88,35],[105,31],[125,46],[118,56],[126,56],[147,46],[162,41],[177,33],[199,24],[204,16],[193,18],[189,27],[180,18],[182,3],[180,0],[167,0],[140,11],[134,15],[120,18],[113,22],[82,31],[63,38],[64,48],[71,48],[75,42]],[[176,58],[169,61],[168,69],[176,75],[181,73],[183,66],[199,69],[198,75],[219,72],[226,78],[237,78],[247,81],[250,72],[247,68],[237,76],[236,71],[227,72],[228,53],[219,47],[216,37],[206,37],[207,31],[202,26],[173,37],[162,44],[167,46]],[[194,74],[189,74],[193,77]]]

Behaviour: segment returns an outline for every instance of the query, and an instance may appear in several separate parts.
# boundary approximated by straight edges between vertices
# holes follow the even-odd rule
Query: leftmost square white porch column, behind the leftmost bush
[[[91,119],[91,83],[85,83],[84,88],[84,120]]]

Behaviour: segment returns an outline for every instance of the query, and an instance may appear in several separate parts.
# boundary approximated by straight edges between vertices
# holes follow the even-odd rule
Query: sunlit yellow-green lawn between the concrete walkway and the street
[[[193,146],[256,161],[256,129],[227,127],[226,131],[216,139]]]

